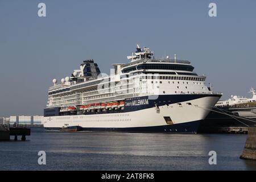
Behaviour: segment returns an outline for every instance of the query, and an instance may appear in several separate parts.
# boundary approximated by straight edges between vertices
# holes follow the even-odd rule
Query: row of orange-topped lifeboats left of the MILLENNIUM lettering
[[[102,109],[102,110],[111,110],[111,109],[124,109],[125,101],[119,102],[107,102],[107,103],[95,103],[95,104],[88,104],[88,105],[81,105],[80,110],[92,110],[92,109]]]

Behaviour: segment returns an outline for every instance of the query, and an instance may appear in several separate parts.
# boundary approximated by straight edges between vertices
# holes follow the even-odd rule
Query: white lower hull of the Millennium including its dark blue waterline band
[[[81,126],[84,130],[150,131],[171,133],[197,133],[200,121],[219,100],[219,95],[204,96],[174,104],[147,109],[109,114],[64,115],[44,117],[46,129]],[[189,105],[189,104],[191,105]],[[171,118],[167,124],[166,117]]]

